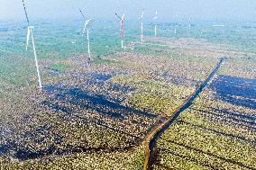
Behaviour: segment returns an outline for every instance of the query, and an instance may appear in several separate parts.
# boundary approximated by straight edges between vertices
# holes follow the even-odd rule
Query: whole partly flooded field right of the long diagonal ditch
[[[256,169],[253,60],[224,62],[205,92],[157,141],[155,169]]]

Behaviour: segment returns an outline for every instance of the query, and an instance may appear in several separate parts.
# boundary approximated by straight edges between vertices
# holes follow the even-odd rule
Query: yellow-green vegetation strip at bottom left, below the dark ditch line
[[[143,147],[134,148],[131,151],[115,151],[112,153],[95,152],[74,154],[71,157],[50,157],[50,159],[29,160],[19,164],[18,162],[1,162],[4,169],[87,169],[110,170],[127,169],[141,170],[144,160]]]

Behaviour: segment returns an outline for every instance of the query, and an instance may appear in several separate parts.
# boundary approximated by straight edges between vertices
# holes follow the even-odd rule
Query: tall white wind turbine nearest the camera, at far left
[[[39,87],[40,87],[40,90],[41,90],[42,89],[41,76],[40,76],[40,70],[39,70],[39,66],[38,66],[38,60],[37,60],[37,55],[36,55],[36,50],[35,50],[35,45],[34,45],[34,40],[33,40],[33,33],[32,33],[32,29],[34,29],[34,26],[30,25],[30,21],[29,21],[28,13],[26,11],[24,0],[23,0],[23,8],[24,8],[24,12],[25,12],[25,15],[26,15],[26,20],[28,22],[28,31],[27,31],[27,40],[26,40],[26,51],[28,50],[29,40],[31,38],[32,39],[33,55],[34,55],[34,60],[35,60],[35,66],[36,66],[36,71],[37,71],[37,76],[38,76],[38,83],[39,83]]]

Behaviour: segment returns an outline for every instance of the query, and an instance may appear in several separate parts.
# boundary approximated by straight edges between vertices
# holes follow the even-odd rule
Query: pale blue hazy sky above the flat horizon
[[[78,7],[89,17],[114,19],[114,13],[126,11],[128,19],[137,19],[145,9],[151,19],[256,20],[256,0],[24,0],[33,19],[80,19]],[[22,0],[0,0],[0,20],[24,20]]]

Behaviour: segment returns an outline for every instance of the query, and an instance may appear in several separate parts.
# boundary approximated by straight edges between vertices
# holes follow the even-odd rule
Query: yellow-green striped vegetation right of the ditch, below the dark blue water
[[[158,140],[160,165],[176,169],[188,168],[189,165],[190,168],[255,168],[253,160],[256,149],[249,142],[255,140],[255,132],[232,122],[225,123],[217,117],[214,119],[211,113],[215,112],[209,112],[206,106],[224,104],[213,101],[206,103],[205,97],[202,104],[183,112]]]

